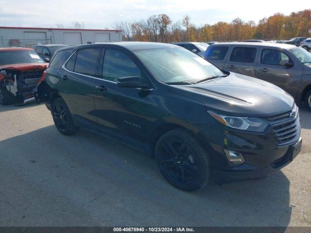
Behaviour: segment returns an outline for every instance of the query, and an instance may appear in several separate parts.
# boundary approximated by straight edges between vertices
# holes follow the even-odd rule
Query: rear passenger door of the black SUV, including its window
[[[96,122],[94,94],[101,52],[101,48],[77,50],[59,71],[57,89],[73,117]]]

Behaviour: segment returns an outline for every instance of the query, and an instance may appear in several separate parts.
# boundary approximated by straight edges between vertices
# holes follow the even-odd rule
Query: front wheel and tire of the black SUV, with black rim
[[[155,158],[164,178],[178,189],[195,191],[209,181],[208,155],[186,130],[164,133],[156,143]]]

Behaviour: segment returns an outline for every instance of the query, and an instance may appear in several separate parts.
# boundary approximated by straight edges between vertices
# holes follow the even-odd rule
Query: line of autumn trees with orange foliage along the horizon
[[[311,37],[311,9],[292,12],[289,16],[276,13],[256,23],[235,18],[230,23],[196,26],[190,16],[173,22],[166,14],[138,21],[119,21],[114,29],[123,31],[124,41],[241,41],[246,39],[281,40],[297,36]]]

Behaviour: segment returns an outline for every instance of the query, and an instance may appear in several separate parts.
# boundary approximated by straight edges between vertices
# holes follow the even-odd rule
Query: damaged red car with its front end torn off
[[[47,67],[33,49],[0,48],[0,104],[34,100],[33,91]]]

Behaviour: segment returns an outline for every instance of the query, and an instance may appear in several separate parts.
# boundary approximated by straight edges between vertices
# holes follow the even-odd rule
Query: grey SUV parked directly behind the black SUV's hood
[[[232,42],[210,45],[204,58],[231,72],[273,83],[311,111],[311,54],[294,45]]]

